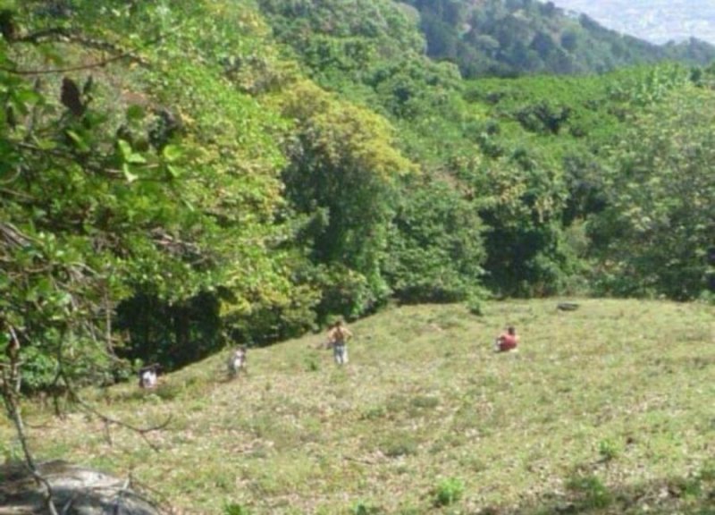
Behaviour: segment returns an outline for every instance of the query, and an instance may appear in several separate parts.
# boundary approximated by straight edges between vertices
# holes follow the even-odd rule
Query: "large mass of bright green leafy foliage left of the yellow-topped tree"
[[[273,134],[282,121],[224,78],[216,51],[251,48],[237,43],[236,23],[248,38],[261,34],[239,8],[118,3],[107,16],[109,7],[73,5],[63,31],[77,43],[54,66],[100,62],[86,30],[120,38],[119,48],[160,39],[137,58],[141,66],[79,66],[88,71],[65,76],[59,99],[54,75],[2,77],[3,249],[16,270],[3,284],[6,320],[28,349],[44,345],[49,355],[69,342],[77,342],[72,352],[96,348],[83,346],[89,339],[172,367],[224,344],[223,300],[255,312],[288,290],[268,249],[285,234],[274,220],[282,155]],[[223,18],[209,16],[214,9]],[[17,16],[25,36],[4,44],[6,70],[38,63],[52,47],[32,35],[54,18],[34,4]],[[98,20],[105,23],[90,23]],[[180,64],[203,55],[204,66]]]

